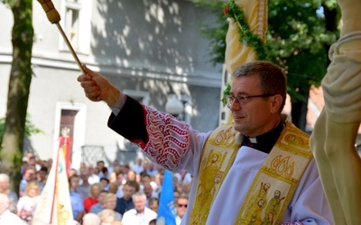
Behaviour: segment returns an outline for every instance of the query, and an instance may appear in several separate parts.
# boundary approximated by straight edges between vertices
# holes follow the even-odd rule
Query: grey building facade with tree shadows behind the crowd
[[[184,106],[180,119],[201,131],[218,126],[221,67],[209,62],[208,40],[199,23],[212,23],[204,9],[187,0],[53,1],[60,28],[81,63],[141,103],[165,112],[175,94]],[[72,163],[101,158],[132,164],[143,157],[106,126],[110,109],[90,102],[77,77],[81,73],[56,24],[33,1],[34,43],[30,120],[43,131],[25,141],[41,159],[59,147],[61,129],[69,128]],[[0,117],[5,117],[12,62],[13,14],[0,4]],[[90,159],[87,157],[90,157]],[[92,158],[92,159],[91,159]]]

